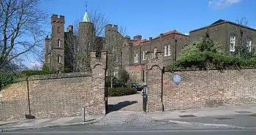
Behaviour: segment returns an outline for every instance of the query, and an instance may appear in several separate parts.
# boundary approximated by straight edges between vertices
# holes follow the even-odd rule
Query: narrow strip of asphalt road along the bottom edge
[[[170,135],[170,134],[177,134],[177,135],[255,135],[256,130],[252,129],[211,129],[211,130],[158,130],[158,131],[16,131],[16,132],[6,132],[0,134],[38,134],[38,135]]]

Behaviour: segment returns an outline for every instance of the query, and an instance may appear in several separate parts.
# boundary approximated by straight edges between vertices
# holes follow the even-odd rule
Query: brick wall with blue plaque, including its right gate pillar
[[[162,53],[147,55],[147,112],[256,105],[256,69],[163,72]],[[181,82],[174,82],[180,75]]]

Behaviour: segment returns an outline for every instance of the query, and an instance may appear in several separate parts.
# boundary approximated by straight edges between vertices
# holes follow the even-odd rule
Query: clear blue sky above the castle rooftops
[[[105,14],[109,23],[126,28],[131,37],[154,38],[173,29],[189,34],[219,19],[236,22],[246,18],[247,26],[256,28],[255,0],[87,0],[87,3],[88,11],[96,9]],[[86,0],[46,0],[40,7],[50,15],[64,15],[67,28],[84,14]],[[47,31],[50,32],[50,17]]]

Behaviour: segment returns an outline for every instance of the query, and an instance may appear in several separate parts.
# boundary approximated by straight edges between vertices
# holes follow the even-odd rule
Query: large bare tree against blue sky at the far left
[[[39,2],[0,0],[0,71],[12,69],[24,55],[42,47],[48,15],[39,9]]]

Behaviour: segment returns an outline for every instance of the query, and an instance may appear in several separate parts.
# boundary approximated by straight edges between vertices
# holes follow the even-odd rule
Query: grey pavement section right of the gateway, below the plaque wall
[[[226,106],[148,113],[158,121],[187,126],[256,128],[256,106]]]

